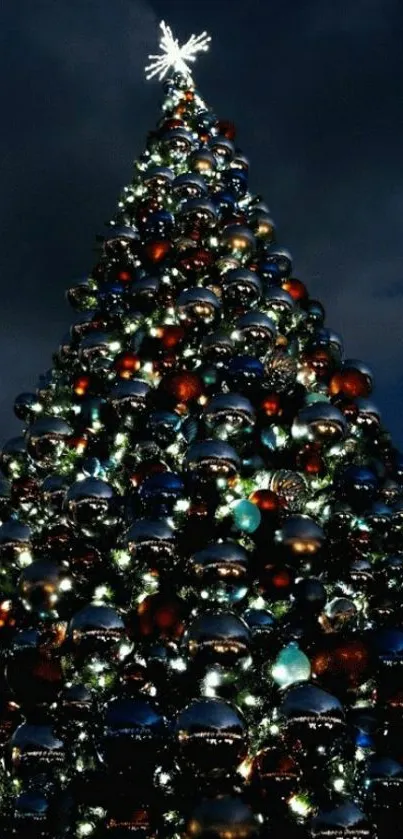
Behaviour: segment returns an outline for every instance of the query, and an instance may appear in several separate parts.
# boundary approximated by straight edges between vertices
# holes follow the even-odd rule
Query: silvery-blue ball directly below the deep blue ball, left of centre
[[[169,567],[176,557],[175,533],[164,519],[139,519],[126,533],[130,555],[147,568]]]

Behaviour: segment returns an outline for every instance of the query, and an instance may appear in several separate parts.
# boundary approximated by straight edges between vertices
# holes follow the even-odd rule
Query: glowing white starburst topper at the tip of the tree
[[[160,23],[160,29],[162,29],[161,52],[158,55],[148,56],[150,64],[145,68],[146,78],[152,79],[158,76],[161,81],[170,68],[191,77],[188,64],[196,61],[197,53],[207,52],[211,41],[210,35],[207,35],[207,32],[191,35],[189,40],[180,46],[178,39],[173,36],[171,27],[167,26],[163,20]]]

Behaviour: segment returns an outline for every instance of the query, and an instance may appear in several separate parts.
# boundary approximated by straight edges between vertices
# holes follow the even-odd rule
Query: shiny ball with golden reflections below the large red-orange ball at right
[[[298,412],[291,433],[295,440],[332,446],[344,439],[347,428],[347,420],[338,408],[329,402],[313,402]]]

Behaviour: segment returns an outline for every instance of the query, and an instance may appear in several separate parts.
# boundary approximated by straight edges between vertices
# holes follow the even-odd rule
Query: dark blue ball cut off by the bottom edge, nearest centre
[[[258,825],[240,796],[222,795],[197,804],[185,824],[184,839],[256,839]]]

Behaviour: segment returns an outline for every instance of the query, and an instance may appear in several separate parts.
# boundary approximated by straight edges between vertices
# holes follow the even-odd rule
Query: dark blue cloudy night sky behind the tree
[[[402,445],[402,0],[3,0],[0,441],[159,117],[143,67],[161,18],[213,36],[198,87],[236,123],[294,275],[374,369]]]

